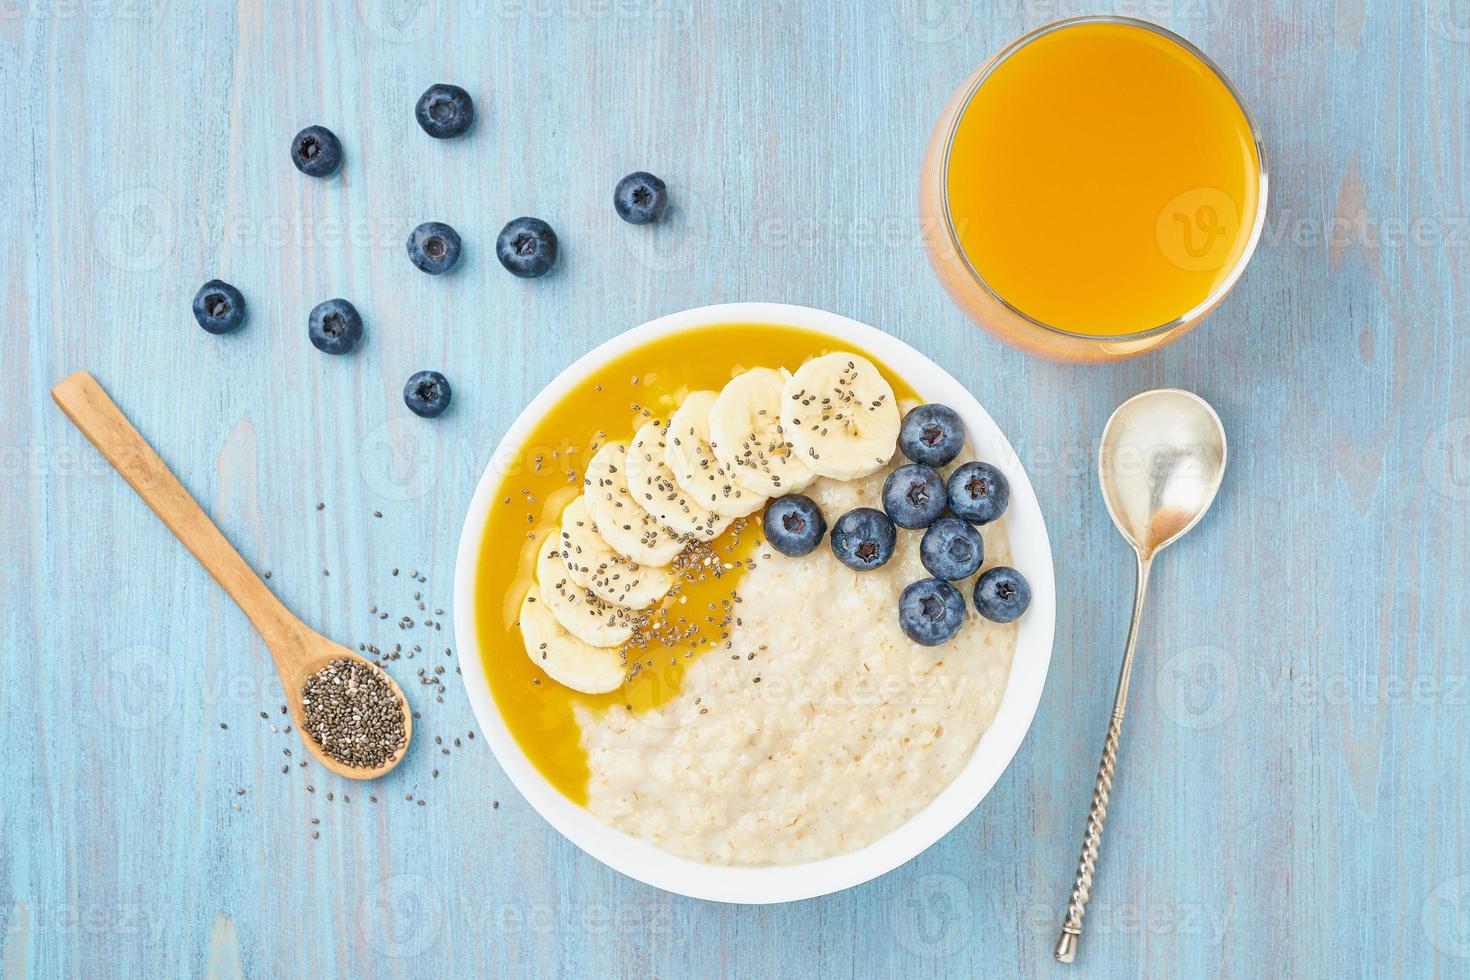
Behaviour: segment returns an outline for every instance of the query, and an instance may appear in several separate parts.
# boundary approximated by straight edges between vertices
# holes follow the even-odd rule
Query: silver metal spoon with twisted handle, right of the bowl
[[[1061,923],[1055,955],[1072,962],[1082,934],[1082,912],[1092,889],[1102,820],[1107,817],[1108,792],[1117,741],[1127,708],[1127,680],[1133,671],[1133,644],[1138,620],[1148,591],[1148,570],[1154,555],[1176,542],[1210,510],[1220,479],[1225,476],[1225,428],[1220,416],[1200,395],[1177,388],[1160,388],[1133,395],[1113,413],[1102,429],[1098,447],[1098,479],[1107,513],[1138,557],[1138,588],[1133,594],[1133,623],[1127,627],[1127,648],[1117,676],[1113,721],[1102,742],[1102,764],[1092,788],[1092,807],[1082,839],[1082,858],[1072,884],[1072,901]]]

